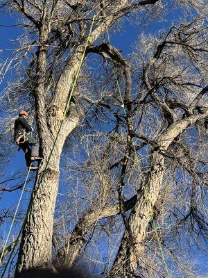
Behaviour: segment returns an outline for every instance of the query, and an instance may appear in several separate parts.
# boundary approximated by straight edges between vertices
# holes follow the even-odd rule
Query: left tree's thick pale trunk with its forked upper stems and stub
[[[14,0],[14,2],[18,3],[16,0]],[[139,6],[149,5],[155,2],[156,1],[141,1]],[[31,210],[29,211],[23,236],[21,237],[16,274],[23,269],[44,267],[51,264],[53,215],[58,190],[60,154],[62,152],[64,140],[78,125],[78,115],[75,115],[71,120],[68,120],[68,122],[66,121],[67,124],[63,125],[66,132],[64,132],[56,142],[49,165],[44,172],[44,178],[42,178],[42,171],[44,170],[45,163],[51,152],[53,140],[58,132],[58,126],[60,126],[60,120],[62,119],[63,111],[66,106],[68,92],[78,70],[86,42],[85,40],[80,44],[75,54],[73,54],[69,60],[68,65],[62,70],[62,74],[55,88],[54,97],[51,101],[51,112],[46,115],[44,79],[47,47],[45,44],[49,37],[51,22],[49,20],[47,21],[46,11],[42,13],[42,22],[37,23],[37,21],[33,20],[32,16],[26,14],[25,8],[19,3],[18,8],[28,19],[32,20],[33,23],[35,22],[40,29],[40,44],[42,45],[37,51],[35,106],[37,113],[36,122],[40,136],[40,150],[44,157],[44,163],[42,163],[40,170],[37,172],[37,179],[31,197]],[[107,16],[105,22],[101,22],[100,25],[94,28],[89,38],[89,44],[92,44],[105,31],[106,25],[111,24],[117,17],[120,17],[122,13],[128,13],[132,8],[137,7],[131,7],[128,5],[128,1],[121,1],[120,6]]]

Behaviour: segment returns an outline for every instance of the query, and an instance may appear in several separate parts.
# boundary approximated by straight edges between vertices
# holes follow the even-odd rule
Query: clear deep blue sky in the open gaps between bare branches
[[[169,26],[171,26],[172,22],[177,21],[177,19],[180,17],[180,10],[175,10],[172,13],[168,15],[168,21],[167,22],[153,22],[145,29],[141,30],[140,26],[132,26],[128,22],[128,20],[123,23],[122,31],[119,33],[114,33],[111,35],[111,43],[118,49],[121,49],[123,51],[123,55],[127,55],[132,51],[132,44],[137,40],[139,34],[141,34],[141,31],[144,31],[145,33],[158,33],[159,30],[165,28],[167,29]],[[11,17],[10,15],[2,15],[0,14],[0,25],[10,25],[15,23],[15,18]],[[0,51],[1,49],[6,49],[3,52],[0,52],[0,59],[4,60],[6,59],[9,54],[11,53],[12,49],[15,48],[15,45],[10,42],[10,40],[13,40],[21,33],[21,27],[3,27],[0,26]],[[9,78],[9,74],[7,75],[7,78]],[[3,81],[0,85],[0,91],[3,90],[6,86],[6,81]],[[15,148],[15,146],[14,146]],[[19,171],[23,171],[23,173],[26,173],[26,166],[24,162],[24,154],[23,152],[16,152],[15,157],[12,158],[10,161],[10,164],[7,167],[7,176],[9,177],[10,174],[14,171],[14,169],[19,169]],[[15,172],[15,171],[14,171]],[[12,183],[11,183],[12,185]],[[30,183],[28,185],[30,188],[33,186],[33,183]],[[10,204],[15,202],[15,200],[18,199],[20,195],[19,192],[14,193],[6,193],[3,195],[3,199],[1,200],[1,208],[10,207]],[[30,196],[30,190],[24,194],[24,200],[21,203],[21,206],[26,207],[28,198]],[[3,227],[3,230],[6,232],[8,225]],[[4,232],[3,232],[4,234]],[[205,254],[202,252],[197,253],[198,258],[201,261],[200,268],[203,273],[207,273],[208,270],[205,265]]]

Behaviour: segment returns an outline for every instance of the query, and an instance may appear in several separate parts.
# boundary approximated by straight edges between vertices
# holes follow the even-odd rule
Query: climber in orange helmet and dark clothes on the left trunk
[[[29,170],[37,170],[38,167],[33,165],[33,161],[41,161],[39,157],[39,144],[31,136],[33,127],[28,124],[29,115],[26,111],[20,111],[19,117],[15,120],[15,142],[25,153],[26,165]]]

